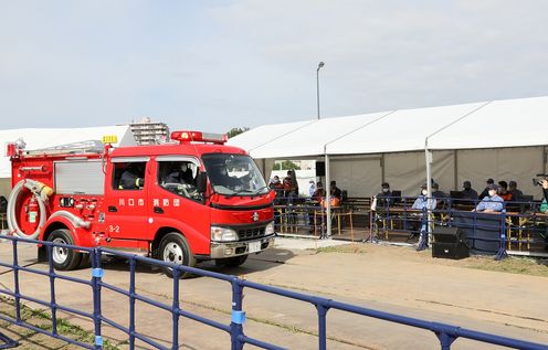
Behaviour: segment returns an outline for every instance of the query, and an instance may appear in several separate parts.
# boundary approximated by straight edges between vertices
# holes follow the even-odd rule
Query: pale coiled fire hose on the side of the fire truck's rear
[[[32,234],[27,234],[21,231],[17,221],[17,212],[15,205],[23,193],[23,189],[29,189],[32,192],[32,195],[38,202],[38,206],[40,210],[40,221],[36,230]],[[53,189],[45,185],[44,183],[31,179],[24,179],[19,181],[11,191],[10,198],[8,200],[8,227],[12,234],[17,234],[23,238],[34,240],[39,236],[42,227],[46,221],[46,209],[45,203],[48,203],[49,197],[53,193]]]

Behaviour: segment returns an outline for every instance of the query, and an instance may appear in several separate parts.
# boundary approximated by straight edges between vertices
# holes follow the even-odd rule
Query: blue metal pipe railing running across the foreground
[[[55,244],[52,242],[41,242],[41,241],[32,241],[32,240],[23,240],[23,238],[18,238],[18,237],[6,237],[11,241],[13,245],[13,261],[12,263],[4,263],[0,262],[0,266],[10,268],[13,272],[13,282],[14,282],[14,290],[8,290],[8,289],[0,289],[1,294],[11,296],[14,298],[14,305],[15,305],[15,318],[11,318],[6,315],[0,315],[0,319],[13,322],[18,326],[22,326],[25,328],[29,328],[31,330],[34,330],[40,333],[49,335],[51,337],[64,340],[68,343],[73,343],[76,346],[80,346],[82,348],[86,349],[103,349],[103,337],[102,337],[102,327],[103,325],[108,325],[128,337],[128,342],[129,342],[129,349],[135,348],[135,341],[138,339],[148,346],[151,346],[156,349],[178,349],[179,348],[179,320],[180,317],[192,319],[194,321],[201,322],[203,325],[210,326],[212,328],[223,330],[226,333],[230,335],[231,337],[231,349],[233,350],[241,350],[245,344],[252,344],[256,346],[263,349],[283,349],[280,346],[268,343],[265,341],[262,341],[260,339],[255,339],[252,337],[247,337],[244,332],[244,324],[245,324],[245,311],[243,309],[243,291],[244,288],[251,288],[251,289],[256,289],[278,296],[283,296],[286,298],[295,299],[295,300],[301,300],[307,304],[312,304],[313,306],[316,307],[317,310],[317,317],[318,317],[318,349],[324,350],[327,348],[327,314],[330,309],[337,309],[340,311],[346,311],[355,315],[361,315],[365,317],[371,317],[380,320],[386,320],[399,325],[405,325],[423,330],[429,330],[434,332],[439,340],[440,340],[440,347],[441,349],[450,349],[451,344],[453,341],[455,341],[457,338],[466,338],[471,340],[476,340],[479,342],[485,342],[485,343],[492,343],[492,344],[498,344],[498,346],[505,346],[505,347],[510,347],[510,348],[516,348],[516,349],[544,349],[547,350],[548,346],[546,344],[540,344],[540,343],[534,343],[529,341],[524,341],[524,340],[518,340],[518,339],[513,339],[508,337],[502,337],[502,336],[496,336],[496,335],[491,335],[491,333],[485,333],[485,332],[479,332],[475,331],[472,329],[466,329],[466,328],[461,328],[452,325],[446,325],[446,324],[440,324],[440,322],[432,322],[432,321],[426,321],[418,318],[411,318],[411,317],[405,317],[401,315],[396,315],[396,314],[390,314],[390,312],[384,312],[380,310],[375,310],[370,308],[365,308],[360,306],[355,306],[346,303],[340,303],[336,301],[333,299],[326,299],[323,297],[317,297],[317,296],[312,296],[312,295],[305,295],[283,288],[277,288],[277,287],[272,287],[272,286],[266,286],[257,283],[253,283],[250,280],[241,279],[235,276],[229,276],[229,275],[223,275],[214,272],[209,272],[209,271],[203,271],[199,268],[193,268],[193,267],[187,267],[187,266],[180,266],[180,265],[173,265],[170,263],[161,262],[161,261],[156,261],[152,258],[148,257],[141,257],[141,256],[136,256],[131,254],[124,254],[115,251],[109,251],[106,248],[85,248],[85,247],[77,247],[73,245],[65,245],[65,244]],[[24,267],[21,266],[18,262],[18,243],[19,242],[25,242],[25,243],[32,243],[32,244],[43,244],[46,246],[49,250],[49,271],[40,271],[31,267]],[[54,246],[61,246],[70,250],[78,250],[81,252],[87,252],[91,256],[91,262],[92,262],[92,278],[91,280],[85,280],[82,278],[76,278],[76,277],[70,277],[70,276],[64,276],[61,274],[57,274],[53,269],[53,261],[52,261],[52,250]],[[104,271],[101,267],[101,256],[103,254],[110,254],[110,255],[116,255],[120,256],[124,258],[127,258],[129,262],[129,289],[125,290],[122,289],[117,286],[107,284],[103,280],[104,278]],[[157,300],[150,299],[144,295],[139,295],[136,291],[135,287],[135,276],[136,276],[136,264],[137,263],[145,263],[149,265],[156,265],[156,266],[164,266],[164,267],[169,267],[172,268],[173,273],[173,279],[172,279],[172,303],[171,304],[164,304],[159,303]],[[20,278],[19,278],[19,272],[27,272],[31,274],[36,274],[36,275],[42,275],[42,276],[48,276],[50,280],[50,289],[51,289],[51,298],[50,300],[40,300],[38,298],[33,298],[27,295],[23,295],[20,290]],[[230,325],[224,325],[221,322],[218,322],[212,319],[208,319],[205,317],[202,317],[200,315],[190,312],[188,310],[181,309],[179,305],[179,287],[181,280],[179,279],[179,276],[181,276],[183,273],[190,273],[193,275],[198,276],[207,276],[220,280],[228,282],[232,286],[232,319]],[[82,285],[87,285],[92,289],[92,298],[93,298],[93,312],[85,312],[81,311],[71,307],[62,306],[56,303],[55,300],[55,280],[56,279],[63,279],[67,280],[71,283],[76,283],[76,284],[82,284]],[[102,298],[102,290],[108,289],[114,293],[127,296],[129,299],[129,322],[128,326],[123,326],[109,318],[107,318],[103,312],[101,308],[101,298]],[[52,314],[52,331],[44,330],[42,328],[39,328],[36,326],[33,326],[31,324],[28,324],[21,319],[21,307],[22,307],[22,300],[27,301],[32,301],[36,303],[39,305],[42,305],[44,307],[50,308],[51,314]],[[136,331],[135,324],[136,324],[136,312],[135,312],[135,303],[136,301],[141,301],[146,303],[148,305],[151,305],[154,307],[164,309],[168,312],[171,314],[172,317],[172,339],[171,339],[171,346],[170,347],[165,347],[160,343],[158,343],[156,340],[151,339],[150,337],[147,337],[145,335],[141,335]],[[82,316],[84,318],[93,320],[94,324],[94,335],[95,335],[95,341],[94,343],[83,343],[81,341],[73,340],[68,337],[62,336],[57,332],[57,311],[65,311],[65,312],[72,312],[78,316]]]

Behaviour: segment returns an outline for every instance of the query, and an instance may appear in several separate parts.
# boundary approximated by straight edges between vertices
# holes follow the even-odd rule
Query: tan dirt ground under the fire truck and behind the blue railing
[[[212,263],[199,267],[373,309],[548,343],[548,319],[542,301],[548,288],[546,259],[508,257],[496,262],[492,256],[473,256],[451,261],[432,258],[431,251],[415,252],[412,247],[363,243],[328,245],[325,242],[310,243],[309,240],[280,240],[276,248],[252,256],[239,268],[222,269]],[[33,251],[29,253],[30,259]],[[0,258],[9,258],[9,246],[0,246]],[[106,265],[105,268],[106,277],[119,280],[119,286],[127,288],[126,283],[122,283],[127,278],[127,266],[124,263]],[[71,275],[82,277],[88,276],[88,273],[83,269],[71,272]],[[161,300],[169,295],[170,283],[166,276],[146,269],[139,276],[144,278],[139,284],[139,293],[157,296]],[[7,285],[9,280],[9,274],[0,276],[1,284]],[[185,283],[183,290],[187,294],[182,303],[186,308],[226,319],[230,305],[222,300],[230,300],[230,290],[223,291],[221,285],[207,278],[192,278]],[[25,285],[38,290],[40,283],[27,280]],[[70,290],[59,293],[60,298],[66,298],[68,305],[84,303]],[[48,293],[36,295],[48,299],[46,296]],[[106,296],[103,303],[104,309],[113,311],[120,305],[119,300],[110,300]],[[273,343],[283,340],[285,343],[281,346],[289,349],[317,349],[317,324],[314,317],[298,304],[278,303],[280,298],[247,290],[247,329],[260,339]],[[12,315],[12,305],[6,300],[0,303],[0,312]],[[147,327],[161,338],[158,330],[169,329],[169,319],[148,312],[155,310],[144,311],[139,317],[148,315],[150,324]],[[123,310],[116,314],[124,315]],[[25,309],[23,316],[31,324],[42,328],[51,327],[46,312]],[[381,325],[336,312],[330,316],[329,322],[329,349],[435,348],[432,347],[435,344],[432,335],[417,337],[418,330],[398,328],[393,324]],[[88,324],[72,318],[62,322],[60,332],[91,343],[92,329]],[[394,329],[398,331],[394,332]],[[193,330],[191,326],[186,333],[192,333]],[[77,349],[4,321],[0,322],[0,331],[19,340],[21,347],[18,349]],[[167,333],[166,337],[169,337]],[[389,333],[390,337],[377,336]],[[104,335],[109,338],[106,349],[127,349],[127,338],[124,336],[106,327]],[[225,346],[224,338],[217,340],[212,335],[209,339],[191,337],[183,349],[225,349]],[[496,349],[463,340],[455,342],[453,348]],[[139,349],[149,347],[141,344]]]

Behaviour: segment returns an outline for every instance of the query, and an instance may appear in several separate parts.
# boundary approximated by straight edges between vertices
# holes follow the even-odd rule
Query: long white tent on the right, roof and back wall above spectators
[[[516,180],[539,198],[530,178],[546,169],[548,137],[539,124],[547,114],[548,97],[494,100],[303,121],[280,137],[272,128],[292,124],[262,126],[229,141],[260,160],[265,172],[274,159],[327,155],[330,178],[351,197],[375,194],[382,181],[417,194],[426,179],[428,146],[432,177],[444,191],[459,190],[463,180],[481,191],[494,178]]]

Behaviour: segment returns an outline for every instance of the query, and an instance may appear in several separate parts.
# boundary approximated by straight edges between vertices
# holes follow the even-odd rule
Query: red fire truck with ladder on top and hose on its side
[[[241,265],[274,244],[275,194],[253,159],[225,141],[175,131],[155,146],[86,141],[31,151],[9,144],[10,231],[187,266]],[[55,247],[54,267],[73,269],[84,254]]]

